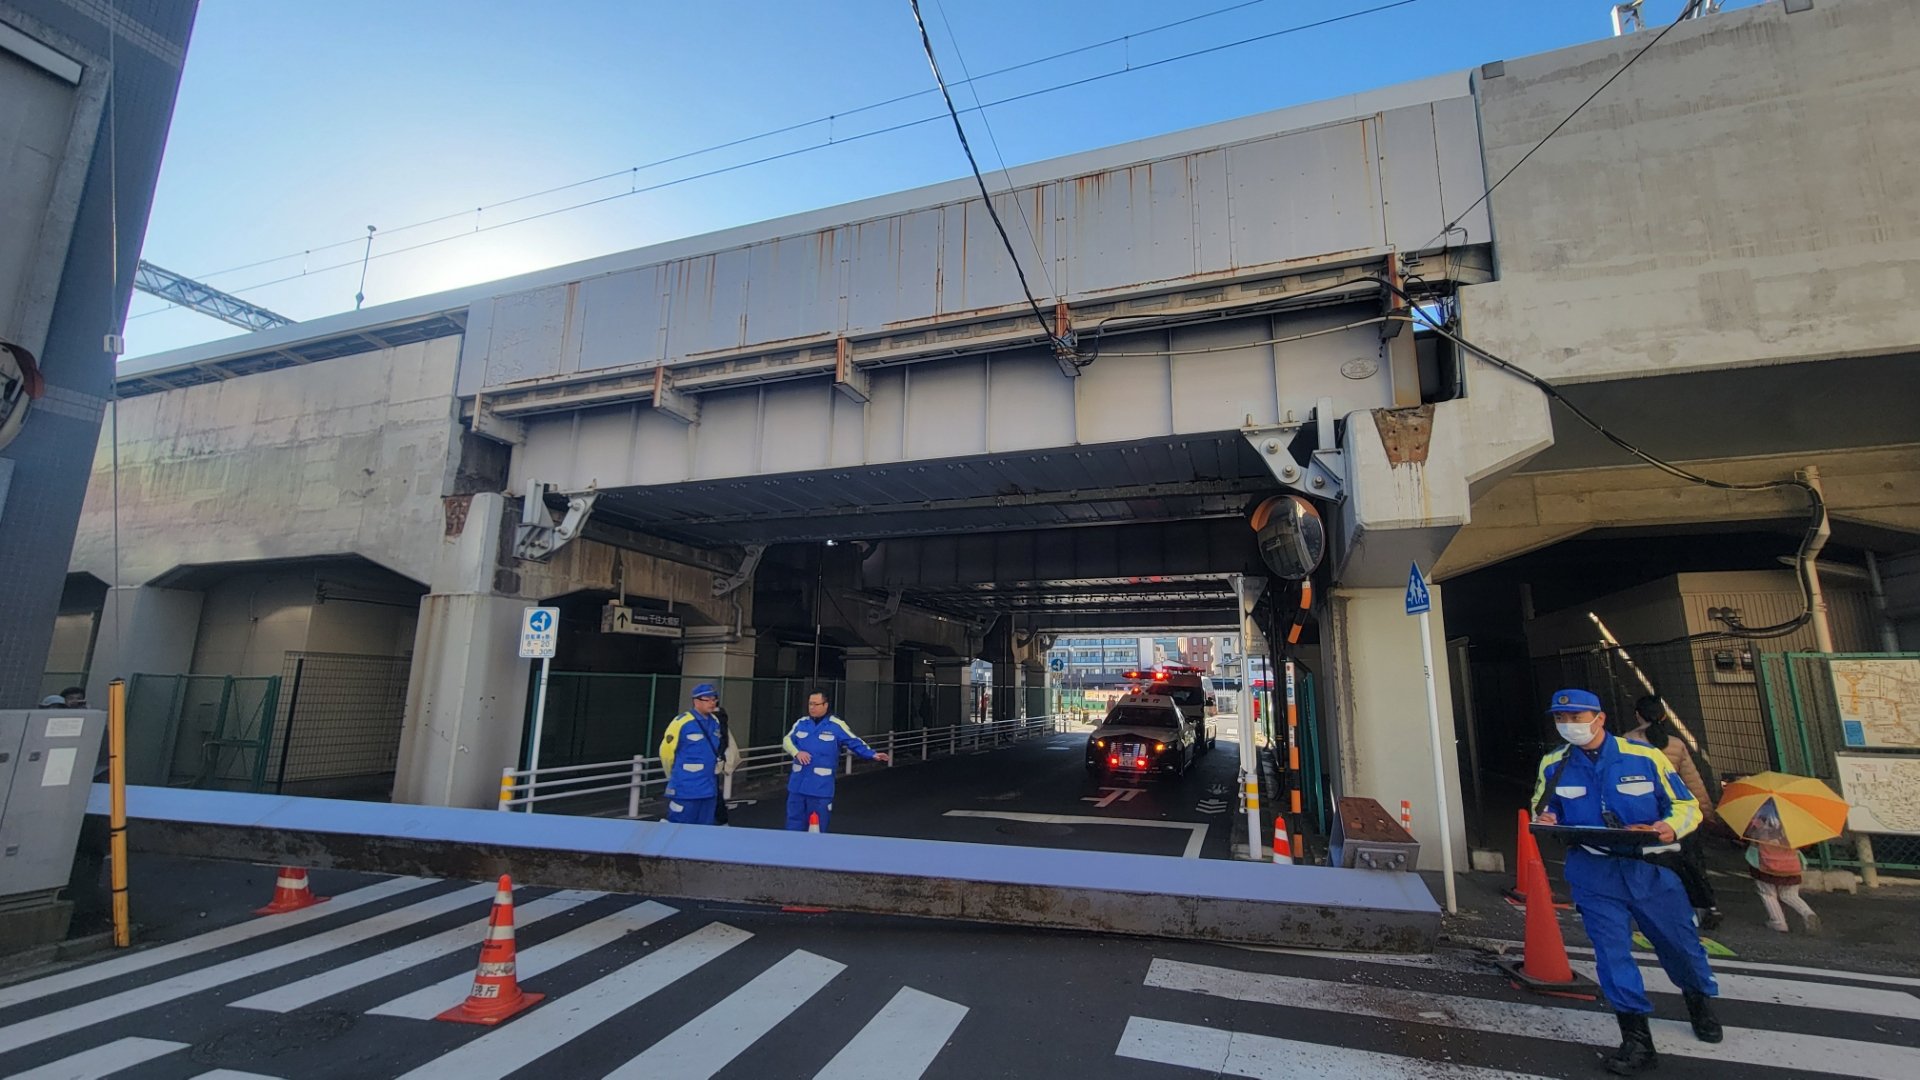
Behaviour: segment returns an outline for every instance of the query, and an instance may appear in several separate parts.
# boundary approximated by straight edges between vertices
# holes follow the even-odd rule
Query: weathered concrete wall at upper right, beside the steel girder
[[[1492,196],[1467,334],[1549,379],[1920,342],[1920,4],[1755,4],[1674,29]],[[1475,81],[1500,177],[1644,35]]]

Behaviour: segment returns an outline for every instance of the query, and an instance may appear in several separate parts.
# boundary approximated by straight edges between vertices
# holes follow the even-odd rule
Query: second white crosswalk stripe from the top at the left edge
[[[73,1034],[81,1028],[92,1024],[102,1024],[108,1020],[119,1020],[127,1013],[138,1009],[150,1009],[154,1005],[165,1005],[167,1001],[177,1001],[188,994],[200,994],[202,990],[211,990],[215,986],[227,986],[228,982],[238,982],[278,967],[286,967],[296,961],[311,961],[334,949],[367,942],[390,930],[399,930],[411,926],[424,919],[436,915],[445,915],[457,911],[476,901],[492,901],[495,886],[493,882],[468,886],[459,892],[442,894],[420,903],[399,907],[394,911],[384,911],[372,919],[363,919],[359,922],[349,922],[311,938],[301,938],[298,942],[288,942],[284,945],[275,945],[259,953],[248,953],[244,957],[234,957],[213,967],[204,967],[198,970],[188,970],[161,982],[152,982],[148,986],[136,986],[132,990],[123,990],[119,994],[109,994],[106,997],[94,997],[92,1001],[83,1001],[69,1009],[58,1009],[31,1020],[21,1020],[17,1024],[8,1024],[0,1028],[0,1045],[23,1047],[33,1045],[54,1036]],[[309,909],[311,911],[311,909]]]

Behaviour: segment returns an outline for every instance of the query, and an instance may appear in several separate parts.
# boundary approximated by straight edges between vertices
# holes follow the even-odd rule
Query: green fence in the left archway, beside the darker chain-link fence
[[[280,676],[134,675],[127,782],[263,792]]]

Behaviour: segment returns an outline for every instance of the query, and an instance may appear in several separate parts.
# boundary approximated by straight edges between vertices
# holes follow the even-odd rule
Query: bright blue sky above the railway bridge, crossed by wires
[[[979,75],[1235,2],[922,0],[922,8],[954,83],[962,67]],[[1256,0],[979,79],[954,98],[968,108],[977,90],[995,102],[1388,2]],[[1670,19],[1684,2],[1647,0],[1647,17]],[[1002,186],[993,175],[1002,158],[1018,165],[1594,40],[1611,33],[1609,6],[1411,0],[964,119],[989,184]],[[931,88],[908,0],[202,0],[144,258],[313,319],[353,307],[359,238],[376,225],[374,256],[394,254],[371,261],[367,306],[386,304],[966,175],[952,125],[941,119],[626,194],[829,135],[841,140],[935,117],[943,106],[927,92],[628,171]],[[503,225],[543,211],[557,213]],[[442,215],[453,217],[401,231]],[[440,242],[397,252],[428,240]],[[276,261],[232,269],[263,259]],[[353,265],[326,269],[338,263]],[[127,356],[236,332],[134,294]]]

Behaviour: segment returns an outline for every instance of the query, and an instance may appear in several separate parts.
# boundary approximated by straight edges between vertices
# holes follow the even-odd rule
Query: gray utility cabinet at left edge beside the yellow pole
[[[65,888],[108,715],[0,709],[0,909]]]

